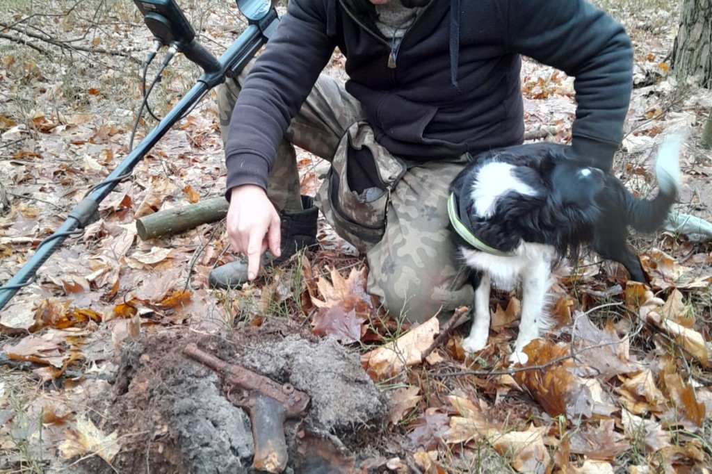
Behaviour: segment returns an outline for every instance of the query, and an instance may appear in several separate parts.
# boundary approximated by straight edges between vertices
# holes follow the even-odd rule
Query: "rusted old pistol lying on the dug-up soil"
[[[303,414],[309,404],[309,396],[295,390],[291,384],[278,384],[239,365],[228,364],[201,351],[193,343],[188,344],[183,353],[217,372],[223,381],[227,399],[249,411],[255,444],[254,468],[281,473],[287,467],[288,460],[284,421]],[[247,396],[233,399],[233,391],[246,391]]]

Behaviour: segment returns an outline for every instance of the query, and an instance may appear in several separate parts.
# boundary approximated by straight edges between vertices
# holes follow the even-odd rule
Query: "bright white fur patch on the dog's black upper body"
[[[484,165],[472,186],[472,199],[479,218],[493,216],[497,201],[510,191],[526,196],[536,196],[536,191],[514,176],[515,167],[508,163],[491,162]]]

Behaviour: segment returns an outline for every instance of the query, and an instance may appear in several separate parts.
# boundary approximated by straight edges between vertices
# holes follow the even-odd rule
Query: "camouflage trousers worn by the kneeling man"
[[[251,65],[217,91],[223,141]],[[365,252],[367,291],[408,322],[471,305],[448,229],[449,184],[466,159],[404,162],[373,137],[359,102],[321,75],[277,149],[267,194],[277,209],[301,209],[294,146],[332,163],[317,206],[335,231]]]

